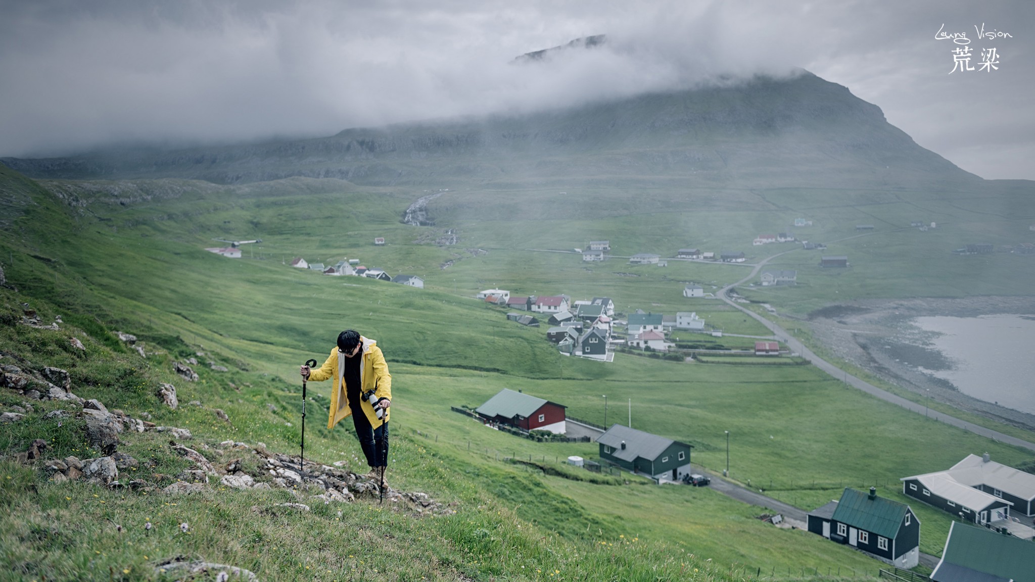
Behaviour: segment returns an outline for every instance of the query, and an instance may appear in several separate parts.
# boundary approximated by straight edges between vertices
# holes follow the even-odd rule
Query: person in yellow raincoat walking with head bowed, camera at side
[[[352,415],[356,438],[371,467],[369,478],[384,479],[388,465],[388,407],[391,406],[391,375],[377,342],[346,329],[337,337],[327,361],[316,370],[299,369],[303,378],[321,382],[334,379],[327,428]],[[384,483],[382,481],[382,483]]]

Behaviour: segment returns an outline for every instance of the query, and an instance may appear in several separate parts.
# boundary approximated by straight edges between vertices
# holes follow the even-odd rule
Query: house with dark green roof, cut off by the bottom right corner
[[[935,582],[1035,582],[1035,542],[952,522]]]

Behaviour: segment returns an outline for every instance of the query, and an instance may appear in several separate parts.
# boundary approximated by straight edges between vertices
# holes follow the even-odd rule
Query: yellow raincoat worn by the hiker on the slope
[[[382,398],[391,400],[391,375],[388,374],[388,363],[385,362],[385,356],[381,353],[381,348],[377,346],[377,342],[374,340],[363,338],[362,336],[359,337],[359,340],[363,343],[363,362],[359,367],[360,391],[368,392],[374,390],[379,400]],[[314,382],[322,382],[328,378],[334,378],[334,390],[330,394],[330,411],[327,416],[328,429],[334,428],[334,425],[338,420],[352,414],[345,382],[342,380],[344,370],[345,354],[338,351],[337,346],[334,346],[330,350],[330,356],[327,357],[327,361],[323,366],[316,370],[309,370],[309,380]],[[388,410],[385,410],[385,417],[382,420],[378,418],[377,413],[374,411],[374,406],[366,400],[361,400],[359,407],[366,414],[366,419],[371,421],[372,428],[377,429],[383,421],[388,421],[388,416],[390,415]]]

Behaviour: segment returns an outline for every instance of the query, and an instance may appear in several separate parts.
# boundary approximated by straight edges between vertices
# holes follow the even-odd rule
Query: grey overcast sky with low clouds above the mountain
[[[0,0],[0,156],[327,136],[803,67],[965,170],[1035,179],[1031,0]],[[982,24],[1010,36],[978,38]],[[936,40],[939,30],[969,43]],[[511,63],[600,33],[600,49]],[[974,70],[950,74],[960,48]],[[981,70],[988,49],[999,68]]]

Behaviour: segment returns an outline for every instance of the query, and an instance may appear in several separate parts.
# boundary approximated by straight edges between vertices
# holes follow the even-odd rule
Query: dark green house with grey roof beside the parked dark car
[[[690,472],[689,444],[622,425],[612,425],[596,439],[600,460],[662,481],[679,481]]]

